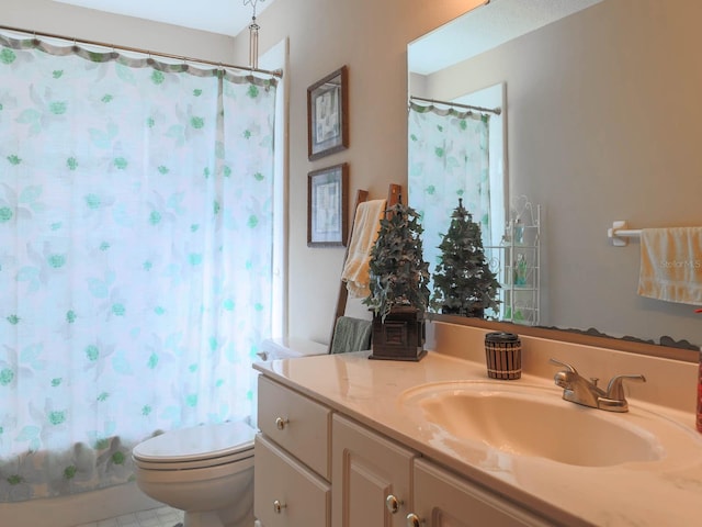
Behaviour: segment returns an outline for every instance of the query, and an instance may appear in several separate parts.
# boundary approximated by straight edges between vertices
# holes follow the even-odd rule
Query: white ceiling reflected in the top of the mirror
[[[602,0],[490,0],[410,43],[409,70],[429,75]]]

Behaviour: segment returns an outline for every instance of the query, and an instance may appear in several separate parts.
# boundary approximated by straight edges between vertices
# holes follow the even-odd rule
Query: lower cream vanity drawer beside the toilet
[[[328,527],[329,483],[288,453],[256,437],[254,515],[265,527]]]

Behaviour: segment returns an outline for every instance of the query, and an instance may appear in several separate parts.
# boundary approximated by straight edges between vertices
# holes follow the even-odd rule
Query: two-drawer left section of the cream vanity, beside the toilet
[[[254,515],[264,527],[329,527],[331,411],[259,378]]]

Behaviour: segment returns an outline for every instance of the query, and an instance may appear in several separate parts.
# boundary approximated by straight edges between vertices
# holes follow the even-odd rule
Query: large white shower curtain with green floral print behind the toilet
[[[0,34],[0,501],[129,481],[247,418],[275,79]]]

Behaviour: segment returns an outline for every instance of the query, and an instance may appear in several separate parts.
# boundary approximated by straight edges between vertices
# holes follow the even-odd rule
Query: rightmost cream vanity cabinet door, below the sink
[[[521,527],[546,526],[512,503],[434,464],[415,461],[415,511],[407,526]]]

